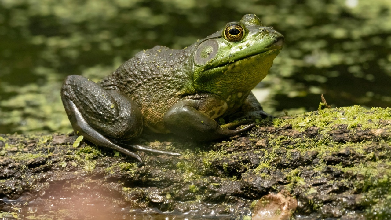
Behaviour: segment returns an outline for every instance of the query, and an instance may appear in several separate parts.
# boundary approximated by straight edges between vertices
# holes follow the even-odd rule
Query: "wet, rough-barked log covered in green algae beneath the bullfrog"
[[[141,168],[84,141],[75,148],[76,138],[0,135],[0,198],[19,198],[22,209],[79,200],[113,212],[249,219],[258,199],[285,189],[298,200],[294,219],[391,219],[390,108],[265,119],[222,142],[145,136],[144,144],[182,156],[141,152]]]

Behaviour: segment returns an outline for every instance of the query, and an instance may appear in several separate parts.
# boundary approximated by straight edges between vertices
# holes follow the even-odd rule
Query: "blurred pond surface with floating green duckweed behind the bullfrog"
[[[65,76],[186,47],[246,13],[285,36],[254,91],[267,112],[391,106],[391,0],[0,0],[0,133],[69,132]]]

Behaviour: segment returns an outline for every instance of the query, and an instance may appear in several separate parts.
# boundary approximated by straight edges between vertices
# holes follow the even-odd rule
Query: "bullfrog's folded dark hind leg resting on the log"
[[[118,146],[115,141],[138,137],[143,128],[142,113],[136,103],[116,90],[102,87],[82,76],[68,76],[61,88],[66,114],[78,135],[88,141],[135,157],[137,153]]]

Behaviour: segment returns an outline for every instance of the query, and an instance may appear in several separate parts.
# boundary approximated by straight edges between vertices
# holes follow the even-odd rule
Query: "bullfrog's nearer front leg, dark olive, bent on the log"
[[[230,130],[220,126],[205,109],[213,108],[221,98],[213,94],[199,94],[197,98],[186,97],[173,105],[164,115],[165,126],[180,136],[198,141],[212,141],[231,137],[249,130],[255,124],[250,124],[239,130]]]

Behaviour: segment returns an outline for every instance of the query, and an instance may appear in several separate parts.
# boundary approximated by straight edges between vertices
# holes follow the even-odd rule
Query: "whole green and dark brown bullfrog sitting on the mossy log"
[[[136,151],[179,155],[129,144],[143,129],[213,141],[255,126],[235,130],[244,122],[220,125],[216,120],[267,115],[251,90],[267,75],[283,41],[273,27],[246,14],[185,49],[140,51],[98,83],[68,76],[61,99],[78,135],[135,157],[142,166]]]

